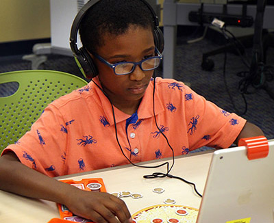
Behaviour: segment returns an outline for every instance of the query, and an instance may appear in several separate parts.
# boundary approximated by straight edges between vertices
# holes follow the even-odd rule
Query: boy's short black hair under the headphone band
[[[84,15],[79,26],[83,46],[96,52],[103,43],[104,34],[125,34],[129,25],[154,29],[153,14],[140,0],[101,0]]]

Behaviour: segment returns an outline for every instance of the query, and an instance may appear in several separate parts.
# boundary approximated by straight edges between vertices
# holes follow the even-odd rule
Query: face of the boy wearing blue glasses
[[[104,45],[98,49],[97,54],[111,64],[139,62],[155,55],[151,29],[132,25],[125,34],[103,36],[103,42]],[[103,90],[112,103],[127,114],[132,113],[127,112],[130,108],[137,109],[149,85],[153,70],[142,71],[139,66],[136,66],[135,70],[128,75],[115,75],[112,68],[96,58],[93,60],[97,65]],[[127,109],[123,109],[124,107]]]

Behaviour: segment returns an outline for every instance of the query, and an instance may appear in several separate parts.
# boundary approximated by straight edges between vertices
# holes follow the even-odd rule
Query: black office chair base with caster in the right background
[[[240,1],[233,1],[233,3],[239,3]],[[210,51],[208,53],[203,53],[202,68],[203,70],[212,70],[214,68],[213,60],[210,60],[208,57],[211,55],[216,55],[228,51],[229,49],[237,49],[237,47],[242,46],[244,43],[253,44],[253,51],[251,57],[251,63],[247,64],[249,70],[243,72],[244,75],[239,82],[239,90],[242,94],[249,94],[249,86],[252,86],[255,89],[264,89],[269,94],[269,96],[274,99],[274,88],[273,85],[274,79],[274,66],[266,65],[266,53],[269,47],[274,47],[274,35],[270,34],[267,29],[263,29],[263,18],[264,18],[264,9],[266,5],[274,5],[273,1],[260,0],[260,1],[248,1],[248,3],[257,3],[257,12],[256,19],[254,22],[254,35],[245,37],[245,41],[238,44],[232,42],[232,44],[227,44],[225,47]],[[249,41],[248,41],[249,40]],[[244,48],[240,48],[245,50]]]

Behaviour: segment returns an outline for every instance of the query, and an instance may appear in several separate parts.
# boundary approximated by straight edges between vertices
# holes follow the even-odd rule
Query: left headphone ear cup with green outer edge
[[[75,57],[75,61],[79,66],[84,77],[92,79],[98,74],[97,67],[95,66],[92,58],[88,54],[88,51],[84,47],[80,48]]]

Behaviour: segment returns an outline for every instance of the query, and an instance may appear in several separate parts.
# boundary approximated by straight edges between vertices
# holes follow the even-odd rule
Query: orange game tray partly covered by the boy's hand
[[[92,179],[82,179],[82,181],[73,181],[73,180],[60,180],[64,183],[69,183],[79,189],[84,189],[86,191],[92,192],[106,192],[103,179],[101,178],[92,178]],[[73,215],[71,211],[65,206],[58,204],[58,209],[62,220],[71,221],[71,222],[92,222],[90,220],[81,218],[77,215]],[[64,222],[64,221],[60,221]]]

